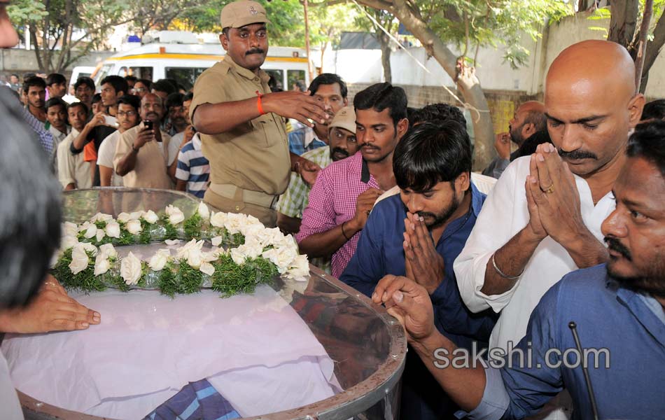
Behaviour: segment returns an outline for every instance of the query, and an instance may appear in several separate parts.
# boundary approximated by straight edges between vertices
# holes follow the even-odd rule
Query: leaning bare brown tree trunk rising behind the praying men
[[[428,54],[436,59],[453,80],[456,80],[458,90],[465,102],[480,111],[479,114],[472,111],[475,135],[473,170],[484,169],[496,156],[496,151],[494,150],[494,133],[489,106],[480,81],[475,76],[475,71],[467,69],[467,71],[458,73],[456,55],[441,41],[441,38],[427,27],[423,20],[416,17],[405,0],[393,0],[392,6],[381,0],[360,0],[360,3],[373,8],[383,8],[393,13],[419,39]]]

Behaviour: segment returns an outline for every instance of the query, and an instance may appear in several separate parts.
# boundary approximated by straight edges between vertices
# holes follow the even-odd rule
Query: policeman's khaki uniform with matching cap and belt
[[[270,21],[265,8],[255,1],[234,1],[222,9],[224,28],[258,22]],[[241,101],[270,93],[268,80],[265,71],[255,74],[226,55],[197,78],[190,116],[202,104]],[[267,113],[228,132],[200,137],[203,155],[210,162],[210,185],[204,201],[221,211],[251,214],[267,227],[274,227],[276,212],[272,207],[286,190],[290,174],[283,118]]]

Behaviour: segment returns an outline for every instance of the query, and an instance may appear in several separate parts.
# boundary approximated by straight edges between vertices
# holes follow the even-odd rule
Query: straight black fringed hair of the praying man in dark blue
[[[395,147],[393,173],[402,190],[423,193],[437,183],[454,182],[463,172],[471,172],[471,141],[455,120],[421,123]]]

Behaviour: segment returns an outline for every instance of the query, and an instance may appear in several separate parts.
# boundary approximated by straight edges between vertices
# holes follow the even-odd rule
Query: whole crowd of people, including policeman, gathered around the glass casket
[[[260,4],[228,3],[227,54],[193,92],[171,80],[107,76],[95,86],[80,78],[78,102],[66,104],[57,96],[62,78],[31,77],[21,118],[63,188],[186,190],[295,235],[312,264],[384,304],[411,349],[402,419],[559,419],[571,410],[658,418],[665,101],[645,104],[625,48],[582,41],[563,50],[544,102],[517,107],[482,175],[472,172],[455,106],[409,108],[405,90],[390,83],[350,104],[332,73],[305,92],[270,90],[260,69],[268,23]],[[44,287],[55,293],[53,281]],[[0,330],[100,322],[66,303],[66,323],[54,327],[55,311],[35,309],[38,299],[0,313]],[[16,321],[35,311],[38,321]],[[587,357],[566,351],[581,351],[580,342],[608,351],[600,367],[573,363]]]

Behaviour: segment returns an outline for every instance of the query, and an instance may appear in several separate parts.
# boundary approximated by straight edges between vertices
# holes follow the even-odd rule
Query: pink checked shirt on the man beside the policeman
[[[379,183],[370,174],[362,153],[332,162],[318,174],[316,183],[311,188],[309,204],[302,212],[300,232],[295,239],[300,242],[310,235],[328,232],[335,226],[350,221],[356,215],[358,195],[370,188],[380,189]],[[333,276],[339,278],[356,253],[360,232],[356,232],[342,248],[332,254]]]

